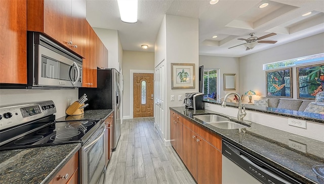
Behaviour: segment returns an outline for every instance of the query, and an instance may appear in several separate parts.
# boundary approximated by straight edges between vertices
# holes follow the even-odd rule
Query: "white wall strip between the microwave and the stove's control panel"
[[[77,100],[78,89],[0,89],[0,106],[53,100],[56,105],[56,118],[65,116],[68,99]]]

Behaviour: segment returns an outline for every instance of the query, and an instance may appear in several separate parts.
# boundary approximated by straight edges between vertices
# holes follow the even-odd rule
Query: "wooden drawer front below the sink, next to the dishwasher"
[[[201,138],[205,139],[208,143],[213,145],[219,151],[222,151],[222,138],[211,133],[210,131],[200,128],[198,126],[195,127],[194,130]]]

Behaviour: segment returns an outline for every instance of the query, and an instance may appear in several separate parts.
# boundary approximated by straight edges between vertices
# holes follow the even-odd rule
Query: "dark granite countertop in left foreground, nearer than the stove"
[[[48,183],[81,144],[0,151],[0,183]]]

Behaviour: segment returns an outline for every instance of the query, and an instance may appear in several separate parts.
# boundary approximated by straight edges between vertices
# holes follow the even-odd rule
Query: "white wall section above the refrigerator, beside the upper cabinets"
[[[93,28],[102,43],[108,49],[108,68],[117,69],[120,71],[120,66],[122,66],[123,58],[123,48],[121,47],[118,31],[103,28]]]

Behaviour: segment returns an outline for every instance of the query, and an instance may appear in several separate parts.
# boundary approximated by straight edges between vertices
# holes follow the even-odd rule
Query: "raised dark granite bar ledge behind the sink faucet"
[[[222,103],[221,100],[212,100],[212,99],[204,99],[204,102],[214,103],[220,105]],[[296,119],[303,119],[308,121],[314,121],[324,124],[324,114],[319,113],[310,113],[304,111],[296,111],[296,110],[289,110],[289,109],[280,109],[280,108],[272,108],[272,107],[262,107],[256,105],[249,105],[245,104],[247,110],[253,110],[257,112],[263,112],[267,114],[273,115],[281,115],[285,117],[293,117]],[[237,107],[237,103],[226,102],[226,106],[229,107]]]

